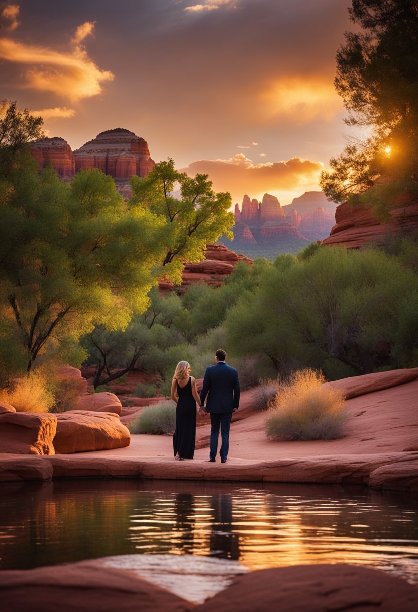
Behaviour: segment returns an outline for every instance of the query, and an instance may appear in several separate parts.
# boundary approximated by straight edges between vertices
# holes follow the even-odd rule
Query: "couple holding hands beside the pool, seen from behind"
[[[175,432],[173,436],[174,456],[178,460],[193,459],[196,442],[196,402],[199,414],[210,414],[209,461],[215,461],[218,450],[219,428],[221,429],[221,463],[226,463],[229,442],[229,426],[232,412],[240,403],[240,383],[235,368],[225,363],[226,353],[219,349],[215,353],[215,365],[207,368],[202,391],[196,389],[196,380],[190,376],[191,367],[180,361],[175,368],[171,384],[171,397],[177,403]],[[208,397],[206,407],[205,399]]]

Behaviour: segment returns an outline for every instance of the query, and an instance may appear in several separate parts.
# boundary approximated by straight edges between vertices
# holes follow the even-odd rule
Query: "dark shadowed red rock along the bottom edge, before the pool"
[[[185,578],[178,575],[178,581]],[[412,584],[347,564],[246,573],[196,606],[130,572],[103,567],[99,559],[0,572],[0,597],[8,612],[415,612],[418,606]]]

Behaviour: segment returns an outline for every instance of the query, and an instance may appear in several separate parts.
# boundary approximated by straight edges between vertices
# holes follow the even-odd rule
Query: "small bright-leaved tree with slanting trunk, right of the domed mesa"
[[[200,261],[208,242],[221,234],[232,239],[229,193],[215,193],[207,174],[192,178],[175,170],[174,161],[160,162],[148,174],[131,179],[133,209],[147,209],[166,219],[161,276],[180,284],[185,261]]]

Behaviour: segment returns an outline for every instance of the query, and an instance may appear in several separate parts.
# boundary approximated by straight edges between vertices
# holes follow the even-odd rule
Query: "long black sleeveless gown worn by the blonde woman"
[[[178,401],[173,435],[174,457],[178,453],[183,459],[193,459],[196,442],[196,400],[191,389],[191,378],[183,388],[176,384]]]

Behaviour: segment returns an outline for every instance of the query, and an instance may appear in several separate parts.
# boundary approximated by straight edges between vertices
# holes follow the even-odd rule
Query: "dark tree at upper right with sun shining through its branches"
[[[418,163],[418,4],[416,0],[353,0],[337,52],[335,86],[349,116],[347,125],[369,127],[323,171],[330,200],[364,192],[378,176],[415,184]]]

